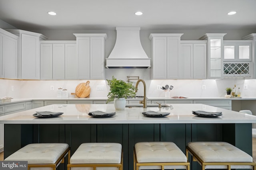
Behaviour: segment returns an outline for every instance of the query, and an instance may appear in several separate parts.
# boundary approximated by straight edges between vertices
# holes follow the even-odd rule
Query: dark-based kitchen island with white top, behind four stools
[[[190,141],[226,141],[252,155],[252,123],[256,116],[204,104],[172,104],[170,107],[126,107],[113,104],[50,105],[0,117],[4,123],[4,157],[28,143],[68,143],[71,154],[81,143],[116,142],[124,150],[124,170],[133,167],[133,147],[140,141],[172,141],[185,152]],[[116,112],[94,118],[89,111]],[[170,112],[166,117],[145,117],[143,111]],[[197,117],[192,110],[221,111],[215,118]],[[54,118],[37,118],[36,111],[59,111]],[[192,169],[197,169],[192,163]]]

